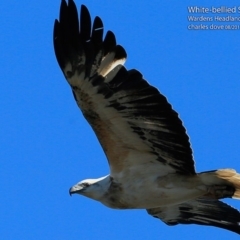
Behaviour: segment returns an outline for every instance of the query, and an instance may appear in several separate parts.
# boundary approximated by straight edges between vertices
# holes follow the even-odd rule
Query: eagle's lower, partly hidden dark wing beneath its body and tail
[[[147,209],[147,212],[169,226],[194,223],[240,234],[240,212],[218,200],[196,199],[174,206]]]

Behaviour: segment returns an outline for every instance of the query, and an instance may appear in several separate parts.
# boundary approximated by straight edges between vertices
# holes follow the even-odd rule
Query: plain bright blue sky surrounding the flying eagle
[[[239,1],[81,3],[115,33],[128,53],[126,67],[140,70],[179,112],[197,171],[240,172],[240,30],[187,29],[188,6]],[[1,239],[238,239],[218,228],[168,227],[145,210],[112,210],[69,196],[70,186],[109,169],[55,59],[59,6],[56,0],[0,3]],[[240,209],[240,201],[226,202]]]

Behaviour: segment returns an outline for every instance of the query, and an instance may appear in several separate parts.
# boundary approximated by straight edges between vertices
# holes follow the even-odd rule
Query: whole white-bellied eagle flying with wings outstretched
[[[53,42],[77,105],[95,132],[110,174],[72,188],[115,209],[146,209],[172,226],[201,224],[240,234],[240,212],[219,201],[240,199],[233,169],[196,173],[189,138],[167,99],[135,70],[103,23],[62,0]]]

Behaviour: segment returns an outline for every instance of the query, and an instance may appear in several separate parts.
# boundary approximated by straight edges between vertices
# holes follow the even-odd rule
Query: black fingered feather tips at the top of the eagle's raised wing
[[[61,1],[59,19],[54,22],[53,44],[58,64],[62,71],[70,63],[74,72],[81,65],[87,75],[94,75],[104,58],[114,52],[112,62],[105,61],[108,69],[116,64],[124,64],[127,53],[125,49],[116,44],[112,31],[108,31],[103,40],[103,22],[100,17],[95,17],[93,24],[88,8],[82,4],[80,18],[73,0]],[[81,61],[80,61],[81,60]],[[68,65],[69,66],[69,65]]]

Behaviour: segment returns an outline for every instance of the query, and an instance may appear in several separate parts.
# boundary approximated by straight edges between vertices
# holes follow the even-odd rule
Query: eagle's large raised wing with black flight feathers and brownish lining
[[[81,7],[63,0],[54,25],[56,58],[83,115],[108,158],[111,174],[153,164],[164,174],[195,174],[189,138],[166,98],[136,70],[112,32]],[[147,166],[147,165],[144,165]],[[146,167],[147,171],[147,167]]]

